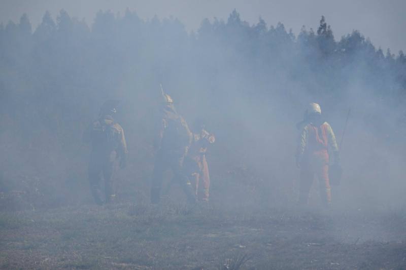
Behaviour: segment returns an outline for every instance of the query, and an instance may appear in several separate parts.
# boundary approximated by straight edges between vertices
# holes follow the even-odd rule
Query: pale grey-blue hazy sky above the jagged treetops
[[[91,25],[99,10],[124,14],[126,8],[136,11],[143,19],[154,15],[159,18],[173,16],[189,31],[196,30],[204,18],[226,20],[236,9],[250,24],[262,17],[268,26],[282,22],[296,35],[302,25],[317,29],[321,15],[324,15],[336,40],[357,29],[377,48],[384,51],[390,48],[394,54],[406,51],[405,0],[0,0],[0,22],[18,22],[26,13],[36,27],[45,11],[55,18],[64,9],[71,17],[84,18]]]

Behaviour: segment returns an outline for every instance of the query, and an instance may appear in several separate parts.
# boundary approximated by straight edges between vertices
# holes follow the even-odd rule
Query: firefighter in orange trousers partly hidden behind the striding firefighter
[[[196,199],[198,196],[199,182],[203,184],[202,200],[209,201],[210,175],[209,166],[206,160],[207,147],[215,142],[215,137],[206,131],[205,123],[197,120],[194,123],[193,141],[187,156],[187,171],[194,179],[194,191]]]

